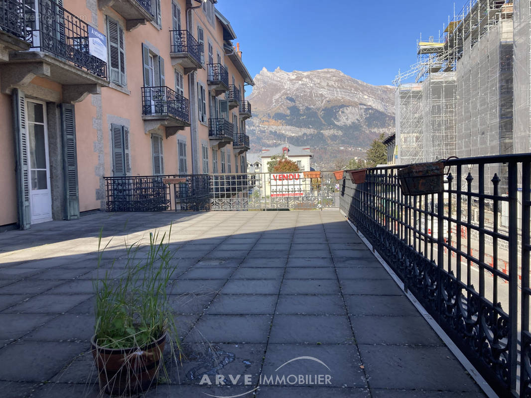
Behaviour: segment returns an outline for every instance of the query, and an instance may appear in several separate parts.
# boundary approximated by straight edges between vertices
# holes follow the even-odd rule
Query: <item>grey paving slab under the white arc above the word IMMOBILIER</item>
[[[286,364],[291,360],[293,361]],[[273,375],[275,378],[277,375],[329,375],[328,380],[324,378],[321,383],[316,379],[316,385],[367,388],[361,365],[362,361],[355,345],[268,344],[262,375]],[[281,369],[278,369],[280,366]]]

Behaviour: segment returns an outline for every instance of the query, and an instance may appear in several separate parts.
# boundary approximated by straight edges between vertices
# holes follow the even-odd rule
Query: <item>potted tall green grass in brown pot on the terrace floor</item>
[[[150,233],[147,246],[140,242],[126,246],[122,275],[114,280],[107,271],[104,278],[93,282],[96,326],[91,345],[102,392],[132,395],[147,390],[156,383],[163,366],[165,346],[173,346],[175,341],[180,348],[167,297],[176,269],[169,249],[170,233],[171,227],[168,242],[166,233],[159,236],[155,232]],[[100,231],[98,269],[109,243],[100,250]],[[174,351],[172,347],[170,352]]]

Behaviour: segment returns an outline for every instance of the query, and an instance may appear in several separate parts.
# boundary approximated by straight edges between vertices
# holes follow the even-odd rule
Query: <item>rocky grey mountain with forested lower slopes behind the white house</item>
[[[366,148],[380,133],[395,130],[395,91],[374,86],[335,69],[273,72],[254,77],[247,120],[251,151],[282,142],[309,145],[316,165],[333,166],[348,148]],[[340,150],[339,148],[344,148]],[[359,151],[341,154],[353,158]]]

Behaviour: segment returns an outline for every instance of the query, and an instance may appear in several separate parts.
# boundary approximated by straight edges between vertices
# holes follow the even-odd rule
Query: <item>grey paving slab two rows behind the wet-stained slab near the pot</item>
[[[273,314],[277,295],[219,295],[205,314]]]

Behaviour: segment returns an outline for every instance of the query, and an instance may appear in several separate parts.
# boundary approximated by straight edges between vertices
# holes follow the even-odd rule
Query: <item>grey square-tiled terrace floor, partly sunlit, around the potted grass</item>
[[[99,229],[113,237],[104,265],[117,257],[120,266],[124,239],[170,222],[171,299],[188,360],[146,396],[243,394],[260,374],[329,374],[331,385],[261,385],[259,398],[483,396],[337,211],[97,213],[1,233],[0,396],[97,395],[89,341]],[[308,359],[276,370],[303,356],[330,370]],[[252,384],[199,385],[216,368]]]

